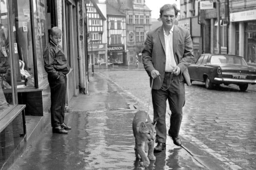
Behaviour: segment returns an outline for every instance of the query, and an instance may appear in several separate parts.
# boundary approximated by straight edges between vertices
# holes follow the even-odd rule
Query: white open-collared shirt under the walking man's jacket
[[[173,28],[170,30],[170,34],[166,35],[166,32],[164,31],[164,41],[165,41],[165,52],[166,52],[166,64],[165,64],[165,72],[172,72],[174,67],[177,65],[176,61],[174,59],[173,54]]]

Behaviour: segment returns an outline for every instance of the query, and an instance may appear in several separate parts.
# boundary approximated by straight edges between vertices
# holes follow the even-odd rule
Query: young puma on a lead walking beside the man
[[[148,117],[148,122],[146,118]],[[137,111],[133,122],[132,130],[135,137],[135,154],[137,158],[141,158],[143,165],[148,166],[149,160],[155,160],[154,144],[156,138],[156,121],[152,123],[146,111]],[[146,153],[148,152],[148,155]]]

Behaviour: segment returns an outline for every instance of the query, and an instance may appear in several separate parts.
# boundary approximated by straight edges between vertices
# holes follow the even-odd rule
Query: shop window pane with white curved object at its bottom
[[[18,63],[17,88],[34,87],[30,4],[28,0],[12,0],[14,16],[14,57]]]

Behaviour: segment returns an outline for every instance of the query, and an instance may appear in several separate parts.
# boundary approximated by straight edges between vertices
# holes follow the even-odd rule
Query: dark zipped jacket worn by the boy
[[[61,74],[68,74],[70,68],[62,50],[52,41],[44,49],[44,68],[52,78],[58,78]]]

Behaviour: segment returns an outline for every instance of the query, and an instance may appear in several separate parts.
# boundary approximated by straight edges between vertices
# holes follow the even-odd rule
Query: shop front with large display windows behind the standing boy
[[[50,88],[43,53],[51,27],[62,29],[62,47],[70,64],[66,103],[86,82],[82,79],[86,72],[80,74],[86,69],[81,63],[87,59],[82,57],[86,56],[85,15],[79,13],[83,11],[79,3],[83,1],[0,1],[0,168],[8,167],[26,146],[26,117],[49,115]]]

